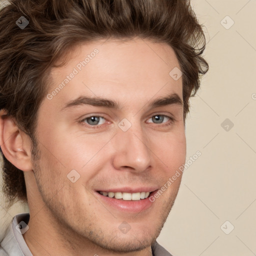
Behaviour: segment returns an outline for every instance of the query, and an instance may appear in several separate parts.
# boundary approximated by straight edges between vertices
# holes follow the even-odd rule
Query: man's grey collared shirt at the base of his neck
[[[17,214],[10,222],[3,239],[0,242],[0,256],[32,256],[22,236],[28,228],[29,213]],[[153,256],[171,256],[155,241],[152,245]]]

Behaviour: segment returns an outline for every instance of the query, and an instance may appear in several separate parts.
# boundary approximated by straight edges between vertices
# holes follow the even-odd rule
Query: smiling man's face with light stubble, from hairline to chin
[[[86,65],[79,65],[88,54]],[[185,162],[182,105],[149,104],[173,93],[182,100],[182,77],[169,75],[179,68],[177,58],[167,44],[140,39],[81,44],[71,55],[65,66],[52,69],[50,95],[38,110],[40,158],[33,163],[30,213],[39,210],[31,201],[43,201],[41,211],[51,228],[63,230],[69,239],[120,252],[145,248],[159,235],[181,175],[153,202],[98,191],[160,190]],[[65,86],[52,93],[65,78]],[[116,101],[119,109],[66,106],[83,96]]]

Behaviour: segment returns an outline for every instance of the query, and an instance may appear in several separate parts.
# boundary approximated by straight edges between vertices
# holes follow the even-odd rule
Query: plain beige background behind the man
[[[250,256],[256,254],[256,0],[191,2],[205,25],[210,66],[186,123],[187,159],[197,150],[201,156],[185,170],[157,241],[174,256]],[[234,124],[229,130],[221,126],[226,118]],[[1,226],[26,211],[0,209]]]

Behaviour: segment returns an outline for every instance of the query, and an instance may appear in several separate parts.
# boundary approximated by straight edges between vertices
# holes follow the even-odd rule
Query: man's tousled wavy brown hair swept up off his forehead
[[[15,23],[20,16],[29,21],[24,29]],[[37,110],[51,67],[65,64],[65,53],[78,43],[110,37],[140,37],[173,48],[183,73],[185,121],[189,97],[208,70],[202,25],[189,0],[9,0],[0,10],[0,109],[31,137],[33,155]],[[26,202],[23,171],[2,157],[8,205]]]

